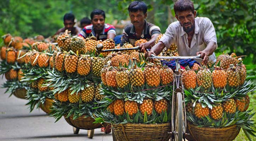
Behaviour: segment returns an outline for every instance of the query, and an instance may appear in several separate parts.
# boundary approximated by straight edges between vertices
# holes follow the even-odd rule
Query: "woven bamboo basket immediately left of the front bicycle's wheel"
[[[118,141],[168,141],[171,123],[158,124],[112,124]]]

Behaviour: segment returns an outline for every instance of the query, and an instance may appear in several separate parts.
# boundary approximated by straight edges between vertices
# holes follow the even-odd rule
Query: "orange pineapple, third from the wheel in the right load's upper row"
[[[215,67],[212,73],[213,86],[215,88],[224,88],[227,85],[227,73],[220,67]]]

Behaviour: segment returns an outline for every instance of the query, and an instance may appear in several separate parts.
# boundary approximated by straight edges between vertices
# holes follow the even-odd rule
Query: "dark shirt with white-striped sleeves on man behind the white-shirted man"
[[[151,36],[153,34],[160,34],[160,28],[154,24],[148,23],[145,20],[145,28],[142,32],[141,37],[137,38],[135,34],[135,27],[133,24],[126,25],[123,30],[123,38],[121,41],[121,46],[125,43],[130,43],[132,45],[135,45],[135,42],[139,39],[147,39],[148,41],[151,39]]]

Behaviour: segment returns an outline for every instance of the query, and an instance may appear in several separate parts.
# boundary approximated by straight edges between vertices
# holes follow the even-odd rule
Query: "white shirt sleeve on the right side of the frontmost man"
[[[214,26],[213,26],[213,23],[210,21],[210,19],[208,18],[205,18],[204,19],[204,28],[203,28],[203,38],[204,38],[204,42],[206,44],[208,44],[210,41],[213,41],[216,43],[216,46],[217,45],[217,37],[216,37],[216,32],[215,32],[215,29],[214,29]]]

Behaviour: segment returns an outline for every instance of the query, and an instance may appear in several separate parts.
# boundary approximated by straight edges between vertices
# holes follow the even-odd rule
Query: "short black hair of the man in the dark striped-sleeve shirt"
[[[143,13],[147,13],[148,6],[143,1],[133,1],[128,7],[129,12],[137,12],[143,11]]]

